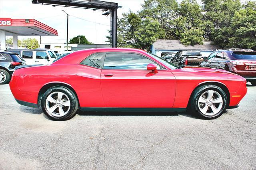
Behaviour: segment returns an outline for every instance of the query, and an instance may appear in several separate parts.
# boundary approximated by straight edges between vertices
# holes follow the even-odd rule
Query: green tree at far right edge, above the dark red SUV
[[[256,50],[256,2],[248,2],[236,11],[227,30],[230,37],[224,47]]]

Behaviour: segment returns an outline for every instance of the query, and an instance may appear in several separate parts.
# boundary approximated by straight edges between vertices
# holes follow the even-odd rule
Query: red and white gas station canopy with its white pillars
[[[5,36],[58,36],[57,30],[34,19],[0,18],[0,43],[5,49]],[[16,42],[13,43],[17,48]]]

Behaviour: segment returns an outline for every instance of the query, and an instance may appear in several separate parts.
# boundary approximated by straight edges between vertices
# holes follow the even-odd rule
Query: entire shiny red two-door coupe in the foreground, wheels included
[[[42,107],[54,121],[82,111],[176,111],[190,109],[214,119],[237,107],[246,79],[225,70],[176,67],[140,49],[76,51],[44,66],[16,69],[10,81],[16,101]]]

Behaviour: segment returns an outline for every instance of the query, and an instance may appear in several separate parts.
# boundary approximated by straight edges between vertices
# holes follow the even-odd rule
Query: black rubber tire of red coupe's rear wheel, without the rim
[[[64,93],[64,95],[66,95],[70,101],[70,108],[69,108],[68,112],[66,113],[66,115],[64,115],[62,117],[56,117],[56,116],[52,115],[51,113],[49,113],[49,111],[47,110],[47,107],[46,107],[47,97],[54,92]],[[76,95],[74,94],[74,92],[71,91],[70,89],[63,87],[63,86],[54,86],[54,87],[51,87],[50,89],[48,89],[42,96],[41,107],[44,112],[44,115],[46,115],[46,117],[48,117],[49,119],[51,119],[53,121],[66,121],[76,115],[76,111],[78,109],[78,99],[76,98]],[[56,109],[58,110],[58,108],[56,108]]]

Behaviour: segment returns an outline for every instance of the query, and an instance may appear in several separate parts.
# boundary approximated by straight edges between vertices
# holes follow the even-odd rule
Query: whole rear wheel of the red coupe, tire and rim
[[[53,121],[66,121],[76,115],[78,100],[73,91],[66,87],[54,86],[48,89],[41,100],[46,117]]]

